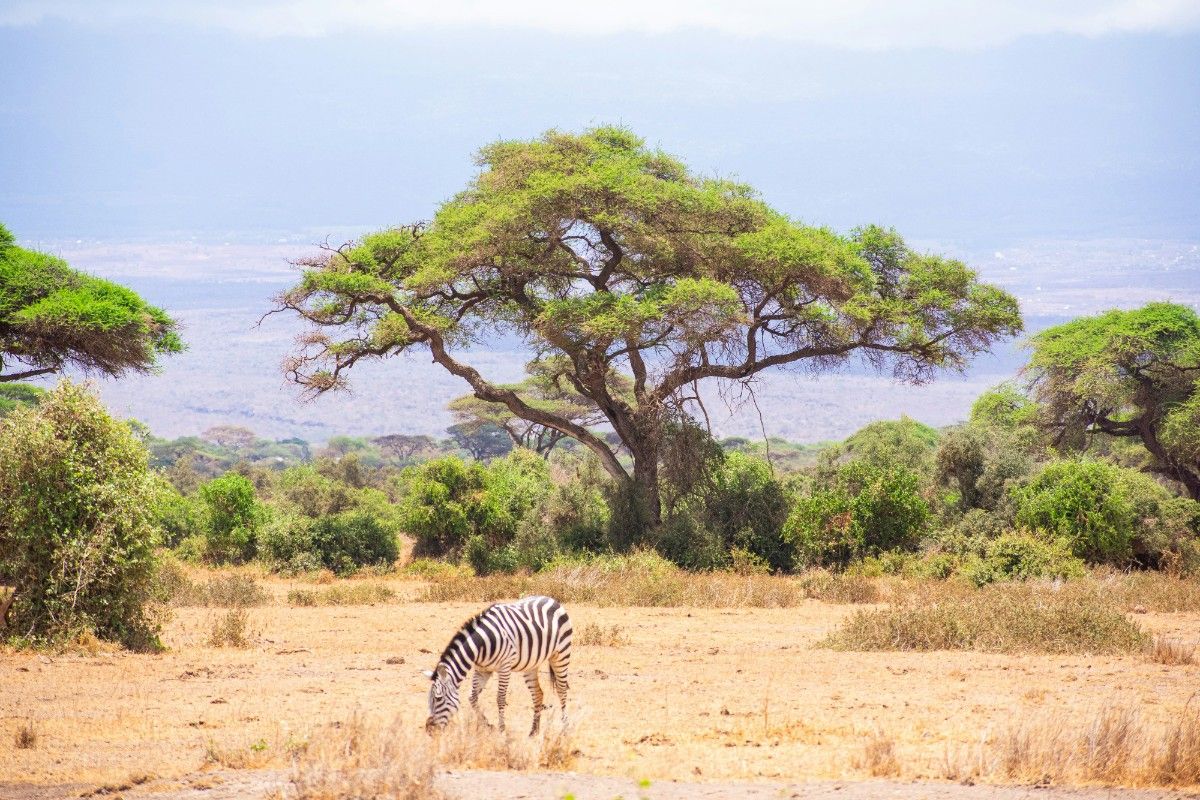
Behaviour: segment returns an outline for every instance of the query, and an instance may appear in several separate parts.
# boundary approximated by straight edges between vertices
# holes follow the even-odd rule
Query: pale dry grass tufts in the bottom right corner
[[[1200,783],[1200,712],[1147,726],[1136,708],[1111,704],[1082,729],[1046,717],[1009,729],[996,745],[998,777],[1039,783],[1195,786]]]

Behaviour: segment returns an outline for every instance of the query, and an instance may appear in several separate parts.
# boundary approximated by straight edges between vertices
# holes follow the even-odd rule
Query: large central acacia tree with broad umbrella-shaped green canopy
[[[802,224],[622,128],[498,142],[478,163],[432,222],[300,261],[280,308],[313,329],[284,369],[319,393],[362,360],[427,350],[478,398],[588,447],[648,525],[660,517],[664,432],[700,381],[827,369],[854,354],[920,381],[1021,327],[1015,299],[960,261],[876,227],[842,236]],[[632,470],[602,434],[468,363],[469,345],[497,332],[520,337],[534,363],[553,360]]]

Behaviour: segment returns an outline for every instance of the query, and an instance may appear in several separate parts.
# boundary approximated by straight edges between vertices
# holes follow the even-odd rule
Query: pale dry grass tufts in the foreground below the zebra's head
[[[577,754],[569,728],[529,739],[498,733],[464,715],[428,736],[400,717],[379,723],[356,711],[311,738],[294,760],[280,799],[439,800],[445,795],[436,776],[444,768],[563,770]]]

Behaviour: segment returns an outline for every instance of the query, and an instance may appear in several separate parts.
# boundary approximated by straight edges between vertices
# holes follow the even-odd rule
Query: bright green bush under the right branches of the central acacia
[[[784,539],[798,567],[845,569],[866,555],[916,549],[928,518],[914,473],[852,461],[796,500]]]

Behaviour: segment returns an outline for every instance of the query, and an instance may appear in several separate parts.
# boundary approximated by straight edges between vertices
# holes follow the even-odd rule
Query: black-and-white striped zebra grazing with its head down
[[[538,667],[550,664],[554,693],[566,722],[566,668],[571,663],[571,619],[553,597],[526,597],[512,603],[496,603],[467,620],[450,639],[438,666],[425,675],[430,686],[430,718],[425,729],[443,728],[458,710],[458,684],[474,667],[470,706],[479,710],[479,694],[492,673],[497,674],[496,705],[499,728],[504,730],[509,675],[523,673],[533,696],[533,729],[541,720],[542,693]]]

